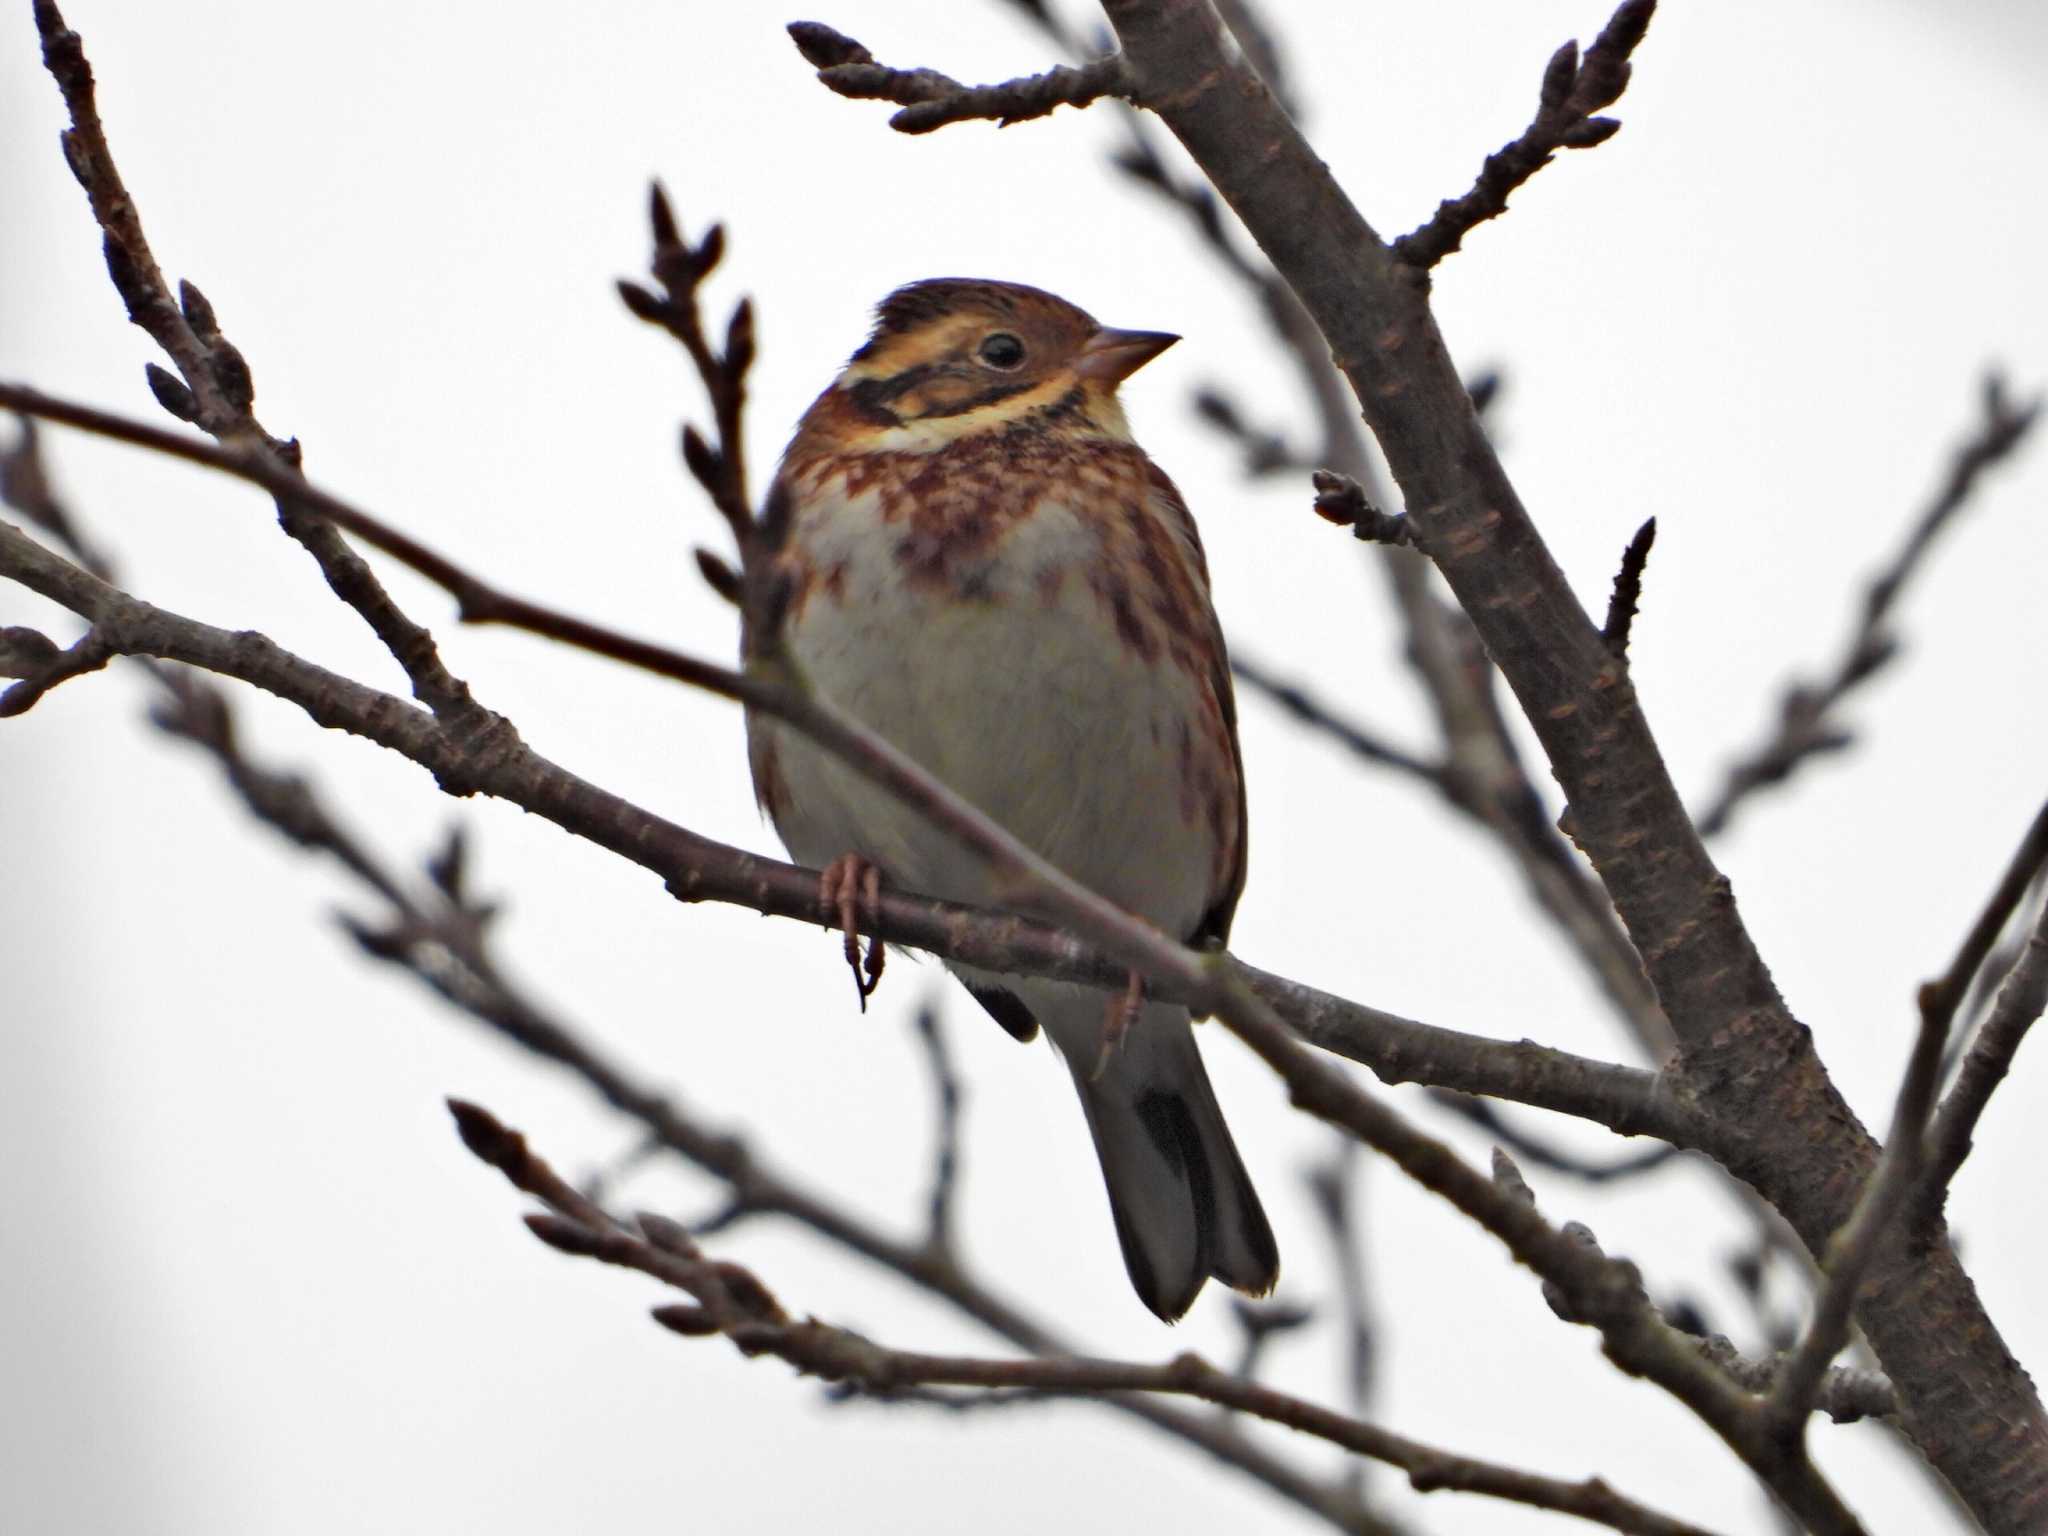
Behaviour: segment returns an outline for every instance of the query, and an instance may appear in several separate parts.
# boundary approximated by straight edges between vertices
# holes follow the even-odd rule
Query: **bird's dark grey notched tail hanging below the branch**
[[[1100,1053],[1077,1044],[1065,1051],[1067,1065],[1139,1300],[1171,1323],[1208,1276],[1253,1296],[1272,1290],[1280,1249],[1208,1085],[1188,1010],[1147,1004],[1100,1073]]]

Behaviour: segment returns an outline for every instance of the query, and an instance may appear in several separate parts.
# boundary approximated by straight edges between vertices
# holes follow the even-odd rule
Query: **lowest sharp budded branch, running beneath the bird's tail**
[[[977,1360],[889,1350],[872,1339],[817,1319],[797,1321],[750,1270],[711,1260],[676,1223],[641,1214],[637,1231],[592,1206],[526,1139],[508,1130],[487,1110],[449,1102],[463,1143],[506,1180],[543,1200],[555,1214],[526,1219],[541,1241],[561,1253],[639,1270],[684,1290],[686,1307],[655,1307],[653,1319],[686,1337],[719,1333],[741,1354],[774,1356],[797,1370],[860,1393],[891,1397],[920,1386],[977,1386],[1075,1397],[1176,1395],[1280,1423],[1327,1440],[1354,1454],[1401,1466],[1417,1491],[1456,1489],[1483,1493],[1536,1509],[1577,1516],[1610,1530],[1642,1536],[1704,1536],[1698,1526],[1659,1516],[1618,1495],[1599,1479],[1563,1483],[1516,1468],[1454,1456],[1352,1419],[1298,1397],[1217,1370],[1184,1354],[1163,1366],[1120,1360],[1034,1358]]]

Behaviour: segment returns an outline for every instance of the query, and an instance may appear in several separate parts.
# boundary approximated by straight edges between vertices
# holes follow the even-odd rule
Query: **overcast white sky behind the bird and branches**
[[[152,414],[147,340],[121,317],[57,154],[27,6],[6,10],[0,373]],[[868,305],[909,279],[1018,279],[1110,324],[1182,332],[1126,399],[1202,520],[1233,643],[1423,739],[1364,557],[1309,516],[1305,487],[1241,483],[1192,420],[1202,381],[1274,422],[1305,406],[1243,295],[1104,170],[1106,113],[901,139],[881,109],[811,82],[780,31],[797,12],[758,4],[66,10],[158,256],[215,301],[264,422],[301,436],[324,485],[506,586],[731,651],[729,612],[688,559],[715,518],[674,457],[696,387],[610,287],[643,260],[645,182],[662,176],[692,231],[729,223],[715,293],[756,297],[750,446],[764,467]],[[1550,49],[1606,18],[1597,0],[1284,10],[1311,135],[1389,233],[1462,190],[1526,121]],[[887,61],[971,80],[1049,57],[993,2],[811,14]],[[2044,68],[2048,27],[2028,6],[1673,4],[1638,55],[1622,135],[1546,170],[1440,272],[1458,356],[1509,373],[1509,469],[1589,602],[1634,526],[1659,518],[1636,682],[1694,793],[1755,735],[1786,670],[1833,653],[1858,580],[1970,422],[1985,362],[2023,389],[2048,377],[2048,213],[2032,193]],[[135,592],[399,684],[254,494],[63,434],[51,457]],[[1864,745],[1759,801],[1716,850],[1866,1120],[1888,1112],[1913,985],[1944,963],[2048,780],[2044,492],[2042,453],[1989,483],[1905,604],[1903,662],[1853,705]],[[389,580],[541,752],[774,850],[733,709],[516,635],[457,633],[440,596]],[[0,623],[74,633],[14,590]],[[535,1245],[440,1098],[489,1104],[571,1171],[623,1153],[631,1128],[358,963],[332,913],[367,899],[254,829],[197,754],[147,729],[145,696],[115,670],[0,729],[10,1528],[1311,1528],[1085,1407],[1001,1421],[827,1409],[780,1366],[664,1335],[643,1313],[651,1284]],[[479,881],[508,903],[504,954],[541,997],[903,1231],[930,1143],[909,1016],[944,997],[971,1096],[973,1260],[1100,1350],[1233,1348],[1214,1294],[1174,1333],[1137,1307],[1065,1075],[936,967],[891,967],[856,1018],[815,932],[678,907],[639,870],[506,807],[455,805],[266,700],[244,719],[401,862],[467,825]],[[1483,842],[1260,702],[1245,758],[1247,958],[1434,1022],[1626,1055]],[[1204,1042],[1280,1231],[1284,1294],[1323,1300],[1327,1253],[1300,1190],[1321,1139],[1221,1030]],[[2036,1366],[2048,1319],[2025,1133],[2044,1106],[2040,1063],[2021,1057],[1954,1200],[1991,1313]],[[1743,1323],[1724,1278],[1741,1231],[1702,1178],[1671,1169],[1624,1192],[1532,1180],[1659,1294]],[[684,1176],[647,1176],[633,1198],[678,1214],[715,1200]],[[1556,1323],[1491,1239],[1384,1167],[1368,1167],[1366,1198],[1382,1421],[1761,1528],[1722,1448],[1608,1372],[1593,1335]],[[721,1243],[795,1309],[903,1346],[987,1343],[801,1235],[758,1225]],[[1276,1376],[1333,1393],[1331,1335],[1288,1341]],[[1819,1438],[1872,1530],[1952,1528],[1874,1432]],[[1391,1501],[1430,1532],[1563,1528],[1479,1501]]]

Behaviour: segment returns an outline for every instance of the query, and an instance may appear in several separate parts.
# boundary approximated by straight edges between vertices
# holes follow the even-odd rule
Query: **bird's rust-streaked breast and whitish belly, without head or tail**
[[[1186,514],[1157,504],[1135,449],[1057,475],[895,459],[784,469],[791,657],[1069,874],[1190,932],[1235,868],[1241,827]],[[999,899],[913,811],[774,723],[750,731],[793,854],[862,852],[911,889]]]

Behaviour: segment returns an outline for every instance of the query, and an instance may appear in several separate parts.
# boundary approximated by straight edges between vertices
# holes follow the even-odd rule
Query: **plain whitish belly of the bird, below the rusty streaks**
[[[905,582],[860,502],[807,545],[819,565],[844,561],[838,590],[809,594],[786,627],[809,684],[1075,879],[1192,932],[1214,889],[1206,680],[1118,637],[1087,586],[1094,535],[1040,506],[965,590]],[[772,750],[776,827],[799,860],[858,852],[897,887],[1001,903],[915,811],[774,721],[750,731]]]

